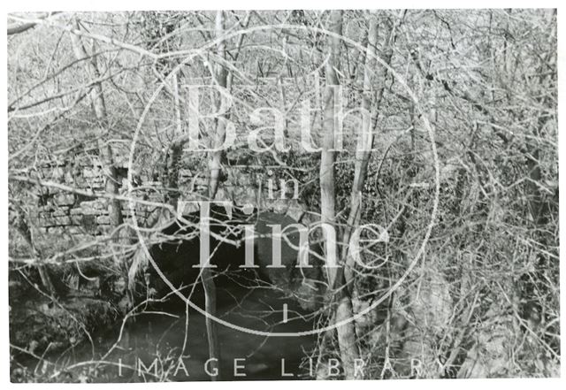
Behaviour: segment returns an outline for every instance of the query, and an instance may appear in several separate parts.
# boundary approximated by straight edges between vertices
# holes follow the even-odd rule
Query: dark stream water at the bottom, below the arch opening
[[[273,290],[256,288],[238,297],[233,295],[218,290],[218,317],[231,324],[264,332],[312,329],[312,321],[303,319],[296,305]],[[288,319],[284,322],[286,303]],[[134,321],[128,320],[119,340],[120,328],[118,324],[111,331],[93,334],[94,356],[90,342],[51,356],[48,360],[54,365],[50,364],[48,371],[59,371],[55,380],[65,381],[210,380],[206,370],[213,369],[206,363],[209,352],[205,318],[195,310],[189,310],[186,316],[182,302],[175,310],[152,310],[136,316]],[[265,337],[219,324],[217,329],[222,380],[310,378],[308,362],[302,368],[300,365],[314,347],[315,336]],[[119,343],[107,355],[117,340]],[[34,370],[36,363],[27,365]]]

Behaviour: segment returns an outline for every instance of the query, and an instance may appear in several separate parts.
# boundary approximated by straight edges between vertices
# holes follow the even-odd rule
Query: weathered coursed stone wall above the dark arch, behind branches
[[[57,162],[42,166],[39,170],[42,180],[50,180],[62,185],[88,191],[94,195],[104,193],[104,172],[101,164],[95,159],[90,161]],[[127,168],[119,168],[121,195],[127,195]],[[145,180],[144,180],[145,179]],[[296,215],[302,207],[296,201],[281,201],[279,195],[276,199],[266,199],[259,193],[262,186],[259,182],[264,179],[264,170],[249,167],[229,167],[226,169],[226,179],[218,188],[217,199],[232,201],[234,204],[252,204],[254,207],[285,212],[293,209]],[[202,200],[207,193],[209,178],[202,173],[191,172],[183,167],[180,169],[180,201]],[[277,185],[278,180],[273,180]],[[160,181],[152,181],[134,176],[135,199],[143,199],[153,203],[164,202],[164,191]],[[278,188],[275,187],[275,190]],[[263,188],[263,194],[265,188]],[[276,193],[277,194],[277,193]],[[260,204],[261,203],[261,204]],[[33,213],[36,226],[42,233],[68,233],[100,235],[107,233],[110,228],[108,215],[108,200],[103,197],[88,197],[68,191],[42,187],[38,194],[37,209]],[[158,206],[149,206],[137,203],[135,216],[138,224],[145,225],[151,214]],[[184,212],[195,211],[195,207],[187,207]],[[289,210],[291,211],[291,210]],[[126,222],[131,222],[132,210],[127,202],[122,202],[122,214]]]

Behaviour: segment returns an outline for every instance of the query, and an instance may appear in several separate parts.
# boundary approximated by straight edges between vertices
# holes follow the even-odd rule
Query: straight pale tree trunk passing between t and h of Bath
[[[332,11],[330,31],[340,35],[342,32],[342,11]],[[321,222],[335,223],[335,183],[334,183],[334,88],[338,86],[336,69],[340,66],[340,38],[329,36],[330,58],[326,64],[326,90],[324,99],[324,134],[322,140],[322,155],[320,160],[320,200]],[[338,246],[336,233],[325,231],[325,256],[327,264],[338,264]],[[343,288],[343,272],[329,269],[329,285],[337,287],[335,300],[337,302],[335,322],[348,320],[352,317],[352,302],[348,290]],[[332,288],[334,290],[334,288]],[[345,379],[356,379],[356,359],[359,351],[356,345],[356,328],[352,322],[337,327],[340,359]]]

